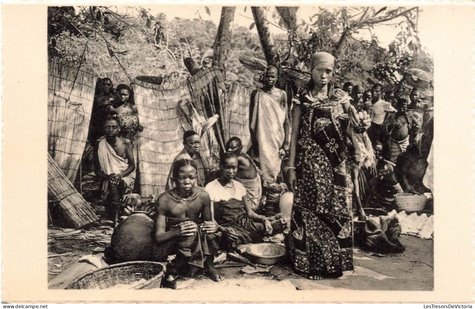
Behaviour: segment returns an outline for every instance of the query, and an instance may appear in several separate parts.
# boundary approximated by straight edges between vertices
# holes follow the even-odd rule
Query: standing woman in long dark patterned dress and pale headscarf
[[[339,117],[348,111],[350,97],[333,88],[331,54],[317,52],[312,60],[312,79],[294,100],[289,252],[295,273],[321,280],[353,269],[351,156]]]

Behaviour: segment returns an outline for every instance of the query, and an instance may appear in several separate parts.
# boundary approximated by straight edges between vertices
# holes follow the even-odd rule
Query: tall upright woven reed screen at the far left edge
[[[96,77],[52,59],[48,69],[48,153],[74,183],[84,152]]]

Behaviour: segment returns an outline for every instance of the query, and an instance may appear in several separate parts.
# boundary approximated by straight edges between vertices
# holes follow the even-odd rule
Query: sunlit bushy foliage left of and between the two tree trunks
[[[217,25],[202,19],[167,20],[148,10],[130,8],[118,14],[110,8],[48,8],[49,55],[81,63],[99,77],[114,84],[130,82],[137,76],[163,77],[174,83],[190,76],[183,59],[206,63],[212,55]],[[255,73],[239,63],[242,54],[259,56],[256,46],[247,44],[249,29],[233,29],[228,55],[227,78],[254,87]]]

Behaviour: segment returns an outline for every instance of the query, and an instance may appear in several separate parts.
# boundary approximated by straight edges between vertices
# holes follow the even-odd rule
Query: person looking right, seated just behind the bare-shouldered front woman
[[[171,190],[174,187],[173,181],[173,166],[175,162],[181,159],[192,160],[198,170],[198,179],[196,180],[196,185],[199,187],[204,187],[206,180],[206,165],[204,160],[201,158],[201,137],[198,133],[193,130],[186,131],[183,133],[183,150],[175,157],[173,164],[171,165],[170,174],[168,175],[168,181],[165,190]]]

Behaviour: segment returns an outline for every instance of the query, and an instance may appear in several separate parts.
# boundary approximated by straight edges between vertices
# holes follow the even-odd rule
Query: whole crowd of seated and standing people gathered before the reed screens
[[[294,193],[286,249],[295,273],[320,280],[352,270],[352,209],[364,219],[365,179],[378,179],[390,195],[430,192],[423,178],[433,138],[433,100],[407,78],[392,90],[380,83],[371,90],[352,82],[337,88],[334,66],[331,54],[315,53],[308,87],[291,100],[276,88],[278,70],[267,67],[263,87],[250,97],[249,150],[231,137],[219,168],[210,170],[200,155],[200,135],[186,131],[154,215],[135,212],[120,223],[121,200],[134,183],[134,137],[141,128],[128,100],[131,89],[119,85],[114,94],[104,78],[94,119],[105,133],[95,146],[95,174],[104,181],[107,216],[116,222],[106,258],[166,261],[176,254],[174,267],[181,274],[202,269],[212,280],[223,280],[214,267],[216,252],[284,232],[281,215],[262,212],[266,188],[284,182]],[[408,76],[428,82],[419,71]],[[133,203],[132,195],[128,201],[138,205],[139,197]]]

